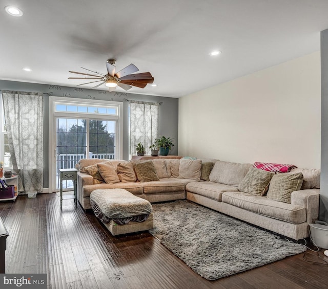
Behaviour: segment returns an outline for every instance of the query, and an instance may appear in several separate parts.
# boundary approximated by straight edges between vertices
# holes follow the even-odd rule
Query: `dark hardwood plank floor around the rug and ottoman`
[[[46,273],[48,288],[324,288],[328,266],[307,251],[216,281],[196,273],[149,233],[113,237],[92,212],[53,194],[0,202],[6,273]],[[322,259],[328,261],[319,252]]]

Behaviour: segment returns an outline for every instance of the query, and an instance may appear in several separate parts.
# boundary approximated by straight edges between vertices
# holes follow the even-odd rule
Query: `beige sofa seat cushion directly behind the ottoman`
[[[144,187],[140,183],[116,183],[116,184],[98,184],[98,185],[85,185],[83,186],[83,197],[89,198],[93,190],[96,189],[125,189],[134,195],[142,195],[144,193]]]

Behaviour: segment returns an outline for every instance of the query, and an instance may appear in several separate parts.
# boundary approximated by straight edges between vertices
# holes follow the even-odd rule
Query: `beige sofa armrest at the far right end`
[[[291,204],[306,209],[306,223],[312,224],[319,217],[320,189],[294,191],[291,195]]]

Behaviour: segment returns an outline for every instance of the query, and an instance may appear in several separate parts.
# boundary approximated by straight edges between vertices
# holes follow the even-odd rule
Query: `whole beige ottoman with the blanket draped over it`
[[[153,207],[143,198],[124,189],[98,189],[90,194],[97,218],[113,236],[153,228]]]

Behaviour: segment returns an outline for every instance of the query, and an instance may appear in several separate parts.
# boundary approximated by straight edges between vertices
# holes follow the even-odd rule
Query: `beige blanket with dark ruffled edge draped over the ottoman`
[[[95,215],[105,224],[111,219],[119,225],[129,221],[142,222],[153,210],[146,199],[124,189],[94,190],[90,194],[90,203]]]

